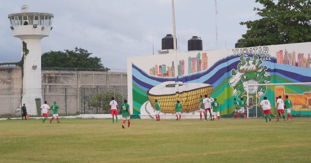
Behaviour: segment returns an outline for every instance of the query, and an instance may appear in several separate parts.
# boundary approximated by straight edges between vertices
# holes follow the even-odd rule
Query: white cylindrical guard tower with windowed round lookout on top
[[[21,13],[8,15],[13,36],[21,39],[21,43],[25,41],[29,50],[24,58],[22,103],[31,115],[41,114],[41,39],[49,36],[53,17],[49,13],[29,12],[27,5],[22,6]]]

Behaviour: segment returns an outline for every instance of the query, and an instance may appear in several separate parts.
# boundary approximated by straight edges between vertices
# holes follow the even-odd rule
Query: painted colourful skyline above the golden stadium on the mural
[[[201,58],[202,57],[202,58]],[[194,72],[200,72],[207,69],[207,53],[200,53],[196,57],[188,57],[188,74]],[[172,66],[155,65],[149,69],[150,75],[162,76],[162,77],[174,77],[175,76],[175,66],[174,61],[172,61]],[[185,75],[185,60],[179,60],[177,64],[177,75]]]

